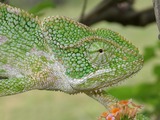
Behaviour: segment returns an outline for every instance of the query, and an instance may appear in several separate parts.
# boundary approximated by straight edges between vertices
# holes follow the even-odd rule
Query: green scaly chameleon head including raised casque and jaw
[[[75,90],[111,86],[142,68],[138,49],[114,31],[93,30],[64,17],[48,18],[43,26],[48,44]]]

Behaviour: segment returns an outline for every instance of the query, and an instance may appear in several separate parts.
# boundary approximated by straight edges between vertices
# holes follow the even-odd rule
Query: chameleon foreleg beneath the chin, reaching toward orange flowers
[[[86,93],[89,97],[95,99],[99,103],[101,103],[106,109],[110,109],[110,107],[118,102],[118,99],[110,95],[104,90],[92,91]]]

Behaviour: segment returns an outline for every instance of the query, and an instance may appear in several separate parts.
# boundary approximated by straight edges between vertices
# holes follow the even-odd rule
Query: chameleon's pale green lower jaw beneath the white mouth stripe
[[[90,74],[83,81],[80,82],[78,86],[72,86],[75,89],[78,89],[83,92],[94,92],[100,93],[105,88],[114,86],[121,81],[126,80],[127,78],[132,77],[135,73],[137,73],[141,67],[136,67],[135,70],[132,72],[128,72],[126,74],[122,74],[121,76],[115,77],[114,72],[116,71],[109,71],[109,70],[99,70],[96,73]],[[107,78],[110,78],[107,80]]]

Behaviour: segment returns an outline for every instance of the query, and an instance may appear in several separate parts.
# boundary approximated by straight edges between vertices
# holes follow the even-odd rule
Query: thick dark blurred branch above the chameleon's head
[[[103,20],[134,26],[155,22],[153,8],[136,11],[133,9],[133,3],[133,0],[104,0],[80,22],[88,26]]]

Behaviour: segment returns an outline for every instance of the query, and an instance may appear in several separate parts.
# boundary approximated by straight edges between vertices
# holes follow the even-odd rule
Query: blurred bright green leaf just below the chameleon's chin
[[[111,88],[108,90],[108,93],[115,96],[118,99],[136,99],[145,104],[150,105],[160,105],[160,94],[157,91],[160,91],[160,83],[155,84],[142,84],[138,86],[123,86]]]

